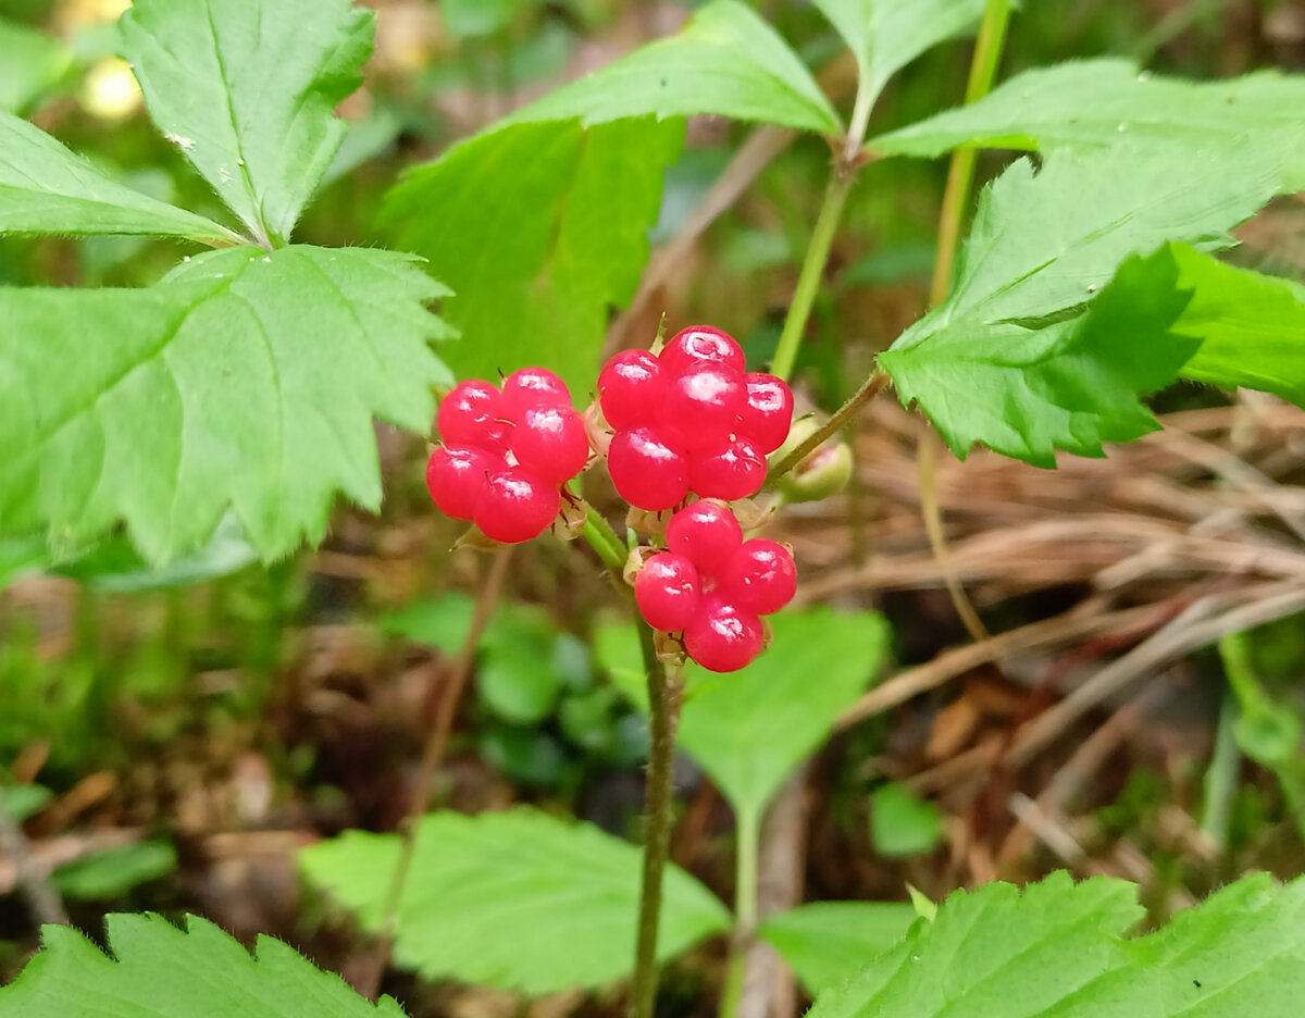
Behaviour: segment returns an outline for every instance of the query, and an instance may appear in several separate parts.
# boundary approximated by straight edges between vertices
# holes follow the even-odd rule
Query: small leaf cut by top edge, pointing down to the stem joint
[[[898,70],[983,17],[984,0],[813,0],[856,56],[863,87],[878,95]]]

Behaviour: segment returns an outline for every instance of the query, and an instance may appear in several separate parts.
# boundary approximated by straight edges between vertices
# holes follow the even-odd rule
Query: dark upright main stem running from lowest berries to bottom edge
[[[662,873],[671,846],[671,770],[675,730],[680,715],[679,672],[667,676],[656,655],[652,630],[636,612],[639,649],[649,686],[649,771],[643,800],[643,878],[639,887],[638,944],[634,950],[634,983],[630,1014],[652,1018],[656,1008],[656,936],[662,915]]]

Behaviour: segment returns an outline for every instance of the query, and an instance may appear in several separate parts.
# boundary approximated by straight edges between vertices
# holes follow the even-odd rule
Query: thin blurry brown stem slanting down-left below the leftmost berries
[[[385,903],[381,907],[381,929],[377,936],[373,966],[367,978],[360,979],[358,985],[359,993],[372,1000],[380,992],[381,978],[385,975],[390,949],[394,946],[394,931],[398,925],[399,904],[403,901],[403,886],[407,884],[408,872],[412,868],[418,829],[422,826],[422,817],[431,808],[435,775],[444,761],[444,750],[449,743],[449,732],[453,731],[453,719],[458,713],[462,690],[466,688],[467,679],[471,675],[471,663],[475,658],[476,646],[480,643],[480,637],[484,634],[485,626],[493,616],[495,604],[499,602],[499,593],[502,590],[504,578],[508,576],[508,563],[510,560],[510,547],[495,552],[489,573],[485,576],[485,581],[476,596],[471,625],[467,628],[462,649],[458,651],[458,656],[448,672],[448,679],[446,681],[440,681],[440,676],[436,676],[432,683],[432,693],[442,686],[440,690],[442,694],[436,709],[435,723],[427,733],[425,747],[422,750],[422,764],[418,767],[412,803],[401,825],[403,841],[399,844],[399,857],[394,864],[394,872],[390,874],[390,886],[386,890]]]

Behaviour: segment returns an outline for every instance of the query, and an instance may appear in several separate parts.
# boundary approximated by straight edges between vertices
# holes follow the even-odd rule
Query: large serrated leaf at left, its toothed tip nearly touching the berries
[[[449,376],[384,251],[210,252],[144,290],[0,288],[0,531],[77,549],[119,521],[159,565],[227,506],[264,559],[317,540],[331,495],[381,501],[372,416],[424,431]]]

